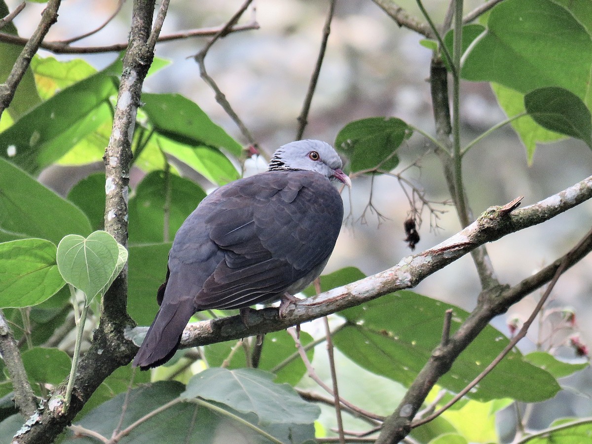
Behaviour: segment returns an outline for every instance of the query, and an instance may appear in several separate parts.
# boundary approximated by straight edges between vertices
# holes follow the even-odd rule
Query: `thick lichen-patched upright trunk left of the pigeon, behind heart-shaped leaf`
[[[113,129],[105,151],[105,230],[118,242],[127,244],[127,189],[131,163],[131,139],[140,105],[141,88],[152,63],[154,48],[147,44],[152,27],[155,1],[135,0],[130,43],[123,60],[123,73],[115,107]],[[154,31],[156,34],[159,30]],[[82,357],[72,400],[67,412],[63,409],[66,382],[53,392],[47,408],[30,429],[21,430],[14,443],[53,442],[72,422],[96,388],[111,372],[130,362],[136,348],[123,337],[134,322],[126,314],[127,269],[115,279],[102,301],[99,327],[91,348]]]

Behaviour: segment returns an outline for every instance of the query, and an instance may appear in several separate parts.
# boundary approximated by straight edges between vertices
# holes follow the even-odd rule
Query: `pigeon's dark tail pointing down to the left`
[[[160,305],[132,365],[147,370],[169,361],[179,348],[181,334],[194,312],[189,298]]]

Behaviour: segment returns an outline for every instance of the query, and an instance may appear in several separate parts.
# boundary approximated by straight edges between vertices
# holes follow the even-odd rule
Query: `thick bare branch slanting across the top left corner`
[[[41,14],[41,21],[37,26],[37,29],[33,33],[33,36],[25,41],[25,47],[22,49],[21,54],[18,56],[17,61],[12,66],[10,75],[6,79],[6,82],[0,85],[0,117],[2,112],[12,101],[14,93],[17,91],[17,86],[21,82],[22,76],[25,75],[27,68],[31,63],[31,59],[39,49],[41,41],[46,36],[47,31],[57,21],[57,9],[60,7],[61,0],[49,0],[47,7]]]

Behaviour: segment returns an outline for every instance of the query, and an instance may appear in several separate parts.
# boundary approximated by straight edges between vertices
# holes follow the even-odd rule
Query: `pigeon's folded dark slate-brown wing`
[[[242,179],[207,203],[204,228],[224,251],[224,260],[195,298],[199,310],[247,307],[281,295],[311,273],[314,279],[343,218],[333,185],[307,171]]]

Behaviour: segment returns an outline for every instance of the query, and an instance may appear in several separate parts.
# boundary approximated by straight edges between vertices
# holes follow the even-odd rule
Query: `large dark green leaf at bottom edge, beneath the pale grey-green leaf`
[[[132,390],[128,395],[121,393],[110,401],[86,414],[76,423],[93,430],[104,437],[111,437],[116,427],[126,429],[145,417],[157,407],[174,401],[183,391],[179,382],[156,382]],[[314,442],[313,424],[257,424],[255,414],[242,414],[223,404],[215,404],[226,414],[215,413],[209,408],[191,402],[174,403],[157,415],[140,422],[130,433],[121,437],[121,444],[184,443],[215,444],[224,442],[263,443],[267,442],[241,421],[255,424],[281,442],[294,444]],[[125,407],[124,407],[125,406]],[[293,414],[295,412],[291,412]],[[122,418],[123,416],[123,418]],[[120,423],[121,421],[121,423]],[[94,444],[91,437],[68,437],[65,442]]]

